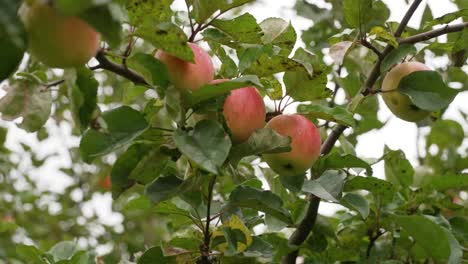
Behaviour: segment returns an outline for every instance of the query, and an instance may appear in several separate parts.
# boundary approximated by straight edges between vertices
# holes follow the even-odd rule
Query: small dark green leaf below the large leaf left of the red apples
[[[160,176],[146,186],[145,195],[153,205],[158,204],[177,195],[183,182],[175,175]]]

